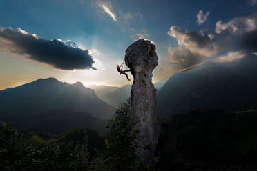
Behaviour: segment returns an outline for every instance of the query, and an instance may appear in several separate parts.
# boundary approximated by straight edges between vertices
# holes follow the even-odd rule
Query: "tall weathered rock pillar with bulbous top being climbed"
[[[158,65],[155,45],[140,39],[128,47],[126,66],[134,77],[131,89],[131,121],[137,121],[137,156],[140,163],[154,157],[160,134],[157,118],[156,90],[152,83],[152,71]]]

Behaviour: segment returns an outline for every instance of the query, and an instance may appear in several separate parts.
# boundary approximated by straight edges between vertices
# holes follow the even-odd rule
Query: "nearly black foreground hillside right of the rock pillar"
[[[257,110],[198,109],[162,119],[161,170],[256,170]]]

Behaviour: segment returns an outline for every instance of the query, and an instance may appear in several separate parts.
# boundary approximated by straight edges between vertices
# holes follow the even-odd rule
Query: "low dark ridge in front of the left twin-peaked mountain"
[[[50,132],[60,134],[73,128],[89,128],[99,134],[106,134],[107,122],[93,117],[91,114],[69,110],[48,111],[41,114],[18,114],[2,117],[10,121],[12,127],[28,132]]]

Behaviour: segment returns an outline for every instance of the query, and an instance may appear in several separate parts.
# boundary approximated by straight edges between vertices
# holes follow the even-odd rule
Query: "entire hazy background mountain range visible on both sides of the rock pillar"
[[[226,63],[205,63],[154,83],[159,116],[195,108],[242,110],[257,105],[256,66],[256,55],[250,55]],[[76,127],[105,132],[103,120],[131,96],[131,85],[91,88],[48,78],[0,90],[0,120],[31,131],[49,126],[50,130],[56,127],[57,132]]]

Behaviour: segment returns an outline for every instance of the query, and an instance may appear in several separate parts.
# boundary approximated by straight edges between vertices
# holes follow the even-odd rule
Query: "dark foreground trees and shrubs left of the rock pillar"
[[[59,135],[32,134],[1,123],[0,170],[136,170],[129,106],[124,103],[110,119],[105,142],[88,129],[76,128]]]

